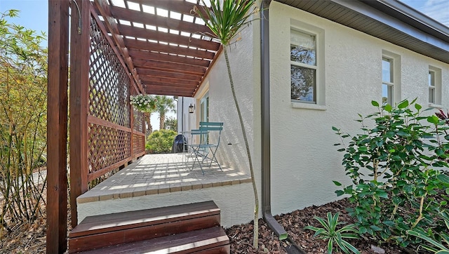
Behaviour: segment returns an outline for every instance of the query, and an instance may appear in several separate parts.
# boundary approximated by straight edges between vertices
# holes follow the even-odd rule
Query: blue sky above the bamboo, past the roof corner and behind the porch
[[[417,11],[428,15],[434,20],[449,27],[449,0],[400,0]],[[19,10],[19,17],[8,19],[16,25],[33,29],[37,33],[45,32],[48,35],[48,0],[0,0],[0,13],[10,9]],[[47,41],[43,42],[43,46]],[[175,116],[170,113],[168,116]],[[159,116],[153,114],[153,128],[159,129]]]

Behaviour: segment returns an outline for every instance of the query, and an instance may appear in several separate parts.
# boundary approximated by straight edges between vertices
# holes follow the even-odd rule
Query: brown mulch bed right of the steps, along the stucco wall
[[[315,239],[314,232],[304,229],[304,227],[307,225],[321,227],[319,222],[313,218],[314,216],[326,218],[328,212],[333,214],[340,212],[339,221],[347,224],[353,223],[354,219],[345,210],[350,206],[347,199],[342,199],[326,203],[323,206],[309,206],[292,213],[276,215],[274,218],[286,229],[290,238],[302,248],[304,253],[327,253],[327,242]],[[231,242],[231,253],[286,253],[283,245],[287,243],[280,242],[263,220],[259,220],[259,248],[257,250],[253,248],[253,223],[229,227],[226,229],[226,233]],[[380,244],[370,239],[349,239],[349,243],[360,250],[362,254],[379,253],[375,252],[372,246],[382,248],[386,254],[416,253],[413,250],[403,250],[396,245]]]

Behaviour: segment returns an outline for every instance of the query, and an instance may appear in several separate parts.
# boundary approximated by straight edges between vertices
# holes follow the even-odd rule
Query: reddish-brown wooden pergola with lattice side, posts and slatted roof
[[[192,12],[200,1],[48,1],[47,253],[67,249],[68,115],[74,226],[89,182],[145,154],[129,95],[193,97],[220,54]]]

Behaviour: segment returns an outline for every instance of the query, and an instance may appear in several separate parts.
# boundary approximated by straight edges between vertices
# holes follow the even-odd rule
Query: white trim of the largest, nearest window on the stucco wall
[[[313,25],[301,22],[299,20],[290,19],[290,30],[297,30],[298,32],[303,32],[305,34],[311,34],[315,36],[315,46],[316,46],[316,65],[307,65],[302,62],[295,62],[290,60],[290,53],[288,54],[288,60],[290,61],[290,66],[295,65],[298,67],[307,67],[309,69],[316,69],[316,91],[315,91],[315,102],[305,102],[300,100],[293,100],[290,98],[291,107],[295,109],[316,109],[316,110],[326,110],[326,79],[324,70],[324,29],[315,27]],[[289,36],[290,39],[290,36]],[[290,50],[290,43],[288,44]],[[290,73],[291,79],[291,73]],[[289,82],[289,87],[291,89],[291,81]]]

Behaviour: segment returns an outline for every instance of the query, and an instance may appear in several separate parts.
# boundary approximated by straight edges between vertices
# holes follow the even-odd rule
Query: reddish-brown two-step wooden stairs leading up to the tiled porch
[[[118,246],[133,248],[132,253],[140,253],[139,248],[142,246],[145,249],[142,251],[147,253],[149,243],[151,246],[161,246],[162,250],[168,248],[164,246],[170,246],[170,250],[180,248],[179,253],[191,253],[191,248],[187,248],[190,246],[189,241],[194,246],[206,246],[205,253],[229,253],[229,239],[225,234],[227,243],[222,244],[225,236],[221,235],[220,229],[222,231],[220,208],[213,201],[94,215],[85,218],[69,233],[69,253],[115,249]],[[215,246],[214,241],[220,244]],[[123,251],[130,253],[128,250]],[[194,252],[202,251],[201,247]]]

